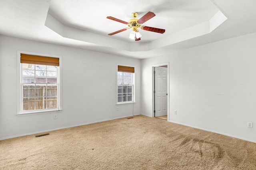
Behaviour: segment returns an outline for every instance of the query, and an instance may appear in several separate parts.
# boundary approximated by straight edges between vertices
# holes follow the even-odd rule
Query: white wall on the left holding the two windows
[[[17,113],[17,50],[62,56],[62,109]],[[136,103],[118,105],[116,63],[136,67]],[[0,140],[140,114],[140,60],[0,36]]]

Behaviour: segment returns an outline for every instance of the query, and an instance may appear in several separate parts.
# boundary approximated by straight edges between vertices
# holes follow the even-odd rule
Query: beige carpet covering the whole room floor
[[[256,144],[134,116],[0,141],[1,170],[256,170]]]

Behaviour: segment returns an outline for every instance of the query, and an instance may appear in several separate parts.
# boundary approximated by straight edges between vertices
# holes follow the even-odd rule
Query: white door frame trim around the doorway
[[[169,121],[169,62],[168,63],[160,63],[160,64],[153,64],[152,66],[152,117],[155,117],[155,94],[154,94],[154,88],[155,88],[155,75],[154,75],[154,68],[159,66],[167,65],[167,121]]]

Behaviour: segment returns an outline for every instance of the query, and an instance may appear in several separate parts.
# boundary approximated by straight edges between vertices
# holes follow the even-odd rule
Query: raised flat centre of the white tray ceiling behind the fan
[[[49,13],[64,25],[105,36],[127,27],[126,24],[106,19],[107,16],[128,21],[132,19],[132,12],[138,12],[139,19],[148,11],[154,12],[156,16],[143,25],[163,28],[166,29],[165,34],[171,34],[209,20],[218,12],[218,8],[210,0],[79,0],[76,3],[71,0],[51,0],[49,8]],[[113,38],[134,42],[127,38],[130,31],[118,33]],[[140,32],[143,36],[141,42],[164,36]]]

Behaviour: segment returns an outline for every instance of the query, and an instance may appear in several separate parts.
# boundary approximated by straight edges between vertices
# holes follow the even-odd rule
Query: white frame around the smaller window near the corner
[[[128,67],[134,67],[134,73],[132,73],[132,101],[127,101],[127,102],[118,102],[118,66],[128,66]],[[116,105],[120,104],[133,104],[136,103],[135,99],[135,72],[136,72],[136,67],[134,65],[127,65],[127,64],[116,64]]]

